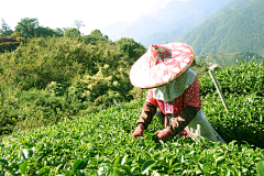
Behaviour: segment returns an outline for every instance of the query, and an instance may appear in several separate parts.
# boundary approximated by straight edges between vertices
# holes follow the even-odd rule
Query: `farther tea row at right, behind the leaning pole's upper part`
[[[264,97],[264,63],[252,61],[239,63],[234,66],[215,73],[223,94],[251,95]],[[213,94],[216,87],[209,74],[199,79],[202,96]]]

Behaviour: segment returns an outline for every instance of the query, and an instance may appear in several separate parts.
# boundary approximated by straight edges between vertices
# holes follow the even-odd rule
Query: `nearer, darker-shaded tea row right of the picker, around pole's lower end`
[[[226,97],[229,113],[218,94],[204,97],[202,109],[211,124],[227,142],[246,141],[264,148],[264,99],[256,95]]]

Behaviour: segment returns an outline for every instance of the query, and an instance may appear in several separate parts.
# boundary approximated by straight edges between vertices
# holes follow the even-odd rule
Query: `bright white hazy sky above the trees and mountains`
[[[132,21],[141,14],[163,9],[172,0],[6,0],[0,18],[14,30],[23,18],[37,18],[42,26],[72,28],[84,21],[84,34],[120,21]]]

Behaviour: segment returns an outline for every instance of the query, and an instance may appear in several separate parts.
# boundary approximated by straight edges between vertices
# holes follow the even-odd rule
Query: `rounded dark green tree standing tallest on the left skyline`
[[[38,26],[37,19],[24,18],[15,26],[15,32],[21,32],[25,38],[34,37],[36,34],[36,29]]]

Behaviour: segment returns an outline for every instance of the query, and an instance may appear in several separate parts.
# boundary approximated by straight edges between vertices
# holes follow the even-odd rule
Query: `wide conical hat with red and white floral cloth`
[[[188,44],[151,45],[132,66],[130,81],[140,88],[163,86],[182,76],[194,59],[194,50]]]

